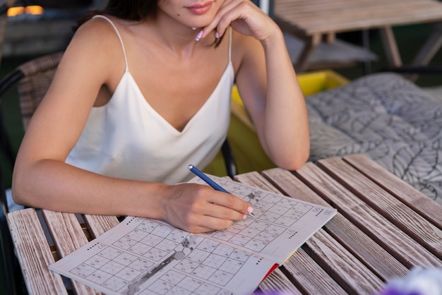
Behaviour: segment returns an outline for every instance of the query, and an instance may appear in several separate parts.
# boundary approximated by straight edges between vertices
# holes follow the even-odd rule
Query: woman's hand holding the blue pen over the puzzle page
[[[192,233],[226,229],[252,210],[244,200],[210,186],[181,183],[167,189],[169,197],[163,199],[161,219]]]

